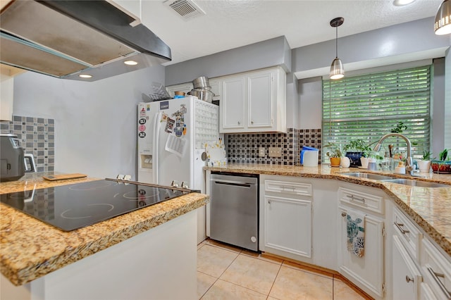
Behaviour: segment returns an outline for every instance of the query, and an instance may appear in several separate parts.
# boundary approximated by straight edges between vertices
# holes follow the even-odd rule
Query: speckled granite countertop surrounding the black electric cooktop
[[[18,181],[0,182],[0,194],[99,180],[42,179],[43,175],[54,174],[57,173],[27,173]],[[23,285],[193,211],[208,201],[209,196],[205,194],[191,193],[70,232],[0,204],[1,273],[14,285]]]

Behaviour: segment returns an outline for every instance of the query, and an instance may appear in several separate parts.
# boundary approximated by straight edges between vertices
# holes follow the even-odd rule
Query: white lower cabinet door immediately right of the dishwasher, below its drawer
[[[311,257],[311,201],[265,195],[264,226],[266,249]]]

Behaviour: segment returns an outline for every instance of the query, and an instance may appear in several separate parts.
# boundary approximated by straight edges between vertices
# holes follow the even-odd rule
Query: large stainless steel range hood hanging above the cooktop
[[[54,77],[94,81],[171,61],[168,45],[111,1],[11,1],[0,25],[1,63]]]

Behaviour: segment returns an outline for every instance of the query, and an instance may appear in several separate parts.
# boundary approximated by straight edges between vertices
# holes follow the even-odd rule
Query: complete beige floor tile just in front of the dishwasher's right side
[[[240,254],[220,278],[267,295],[279,268],[277,263]]]

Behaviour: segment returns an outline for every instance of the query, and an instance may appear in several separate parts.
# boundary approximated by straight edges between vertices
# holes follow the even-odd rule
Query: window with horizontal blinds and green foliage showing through
[[[323,80],[323,144],[344,146],[350,139],[363,139],[372,148],[402,122],[407,126],[402,135],[412,142],[417,158],[429,150],[430,103],[431,65]],[[402,139],[390,137],[379,154],[388,151],[388,144],[395,151],[407,149]]]

